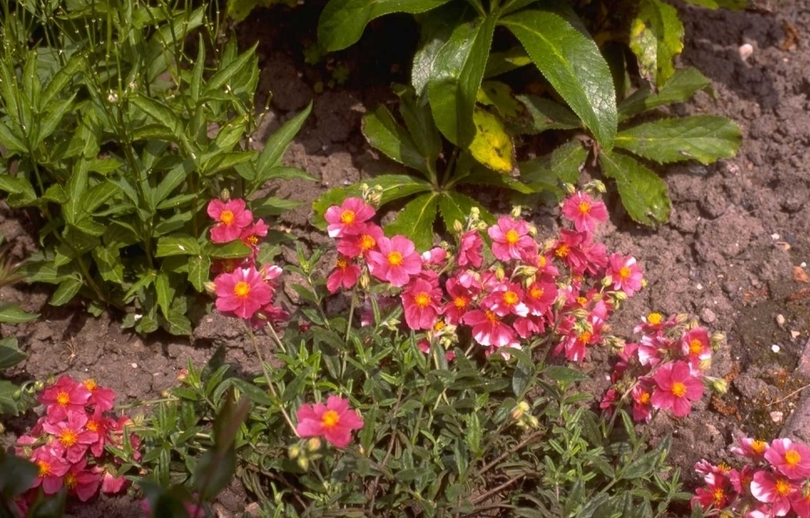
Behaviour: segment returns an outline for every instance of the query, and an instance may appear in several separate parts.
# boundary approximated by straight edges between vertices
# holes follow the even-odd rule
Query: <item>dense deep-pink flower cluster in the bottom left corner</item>
[[[123,447],[126,416],[113,417],[115,392],[92,379],[77,382],[69,376],[45,387],[37,397],[45,405],[45,415],[32,430],[17,440],[17,455],[30,459],[39,473],[29,491],[33,498],[38,487],[52,495],[63,487],[82,502],[92,498],[99,487],[105,493],[118,493],[126,485],[115,462],[105,454],[105,445]],[[138,440],[130,435],[133,458],[140,458]]]

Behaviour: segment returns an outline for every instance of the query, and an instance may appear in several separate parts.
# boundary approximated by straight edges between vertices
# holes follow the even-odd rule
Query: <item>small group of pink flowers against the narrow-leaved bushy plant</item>
[[[267,236],[267,224],[246,208],[240,199],[223,202],[211,200],[208,215],[216,221],[211,228],[213,243],[229,243],[237,239],[250,247],[250,255],[243,259],[226,259],[214,263],[216,307],[221,313],[249,320],[253,327],[262,327],[267,322],[286,320],[289,315],[273,305],[277,286],[274,279],[281,275],[281,268],[265,264],[257,266],[259,241]]]

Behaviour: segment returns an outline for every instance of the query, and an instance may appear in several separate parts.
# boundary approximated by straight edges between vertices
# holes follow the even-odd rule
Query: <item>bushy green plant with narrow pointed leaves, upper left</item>
[[[281,158],[310,108],[253,150],[255,49],[220,48],[213,7],[183,5],[3,2],[0,190],[44,219],[26,279],[139,333],[189,334],[212,263],[251,252],[204,240],[204,200],[227,188],[277,215],[295,202],[257,191],[309,178]]]

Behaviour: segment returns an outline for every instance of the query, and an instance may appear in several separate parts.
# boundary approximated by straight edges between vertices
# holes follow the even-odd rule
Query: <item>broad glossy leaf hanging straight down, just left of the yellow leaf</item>
[[[473,110],[487,66],[495,16],[457,26],[433,61],[428,98],[433,119],[447,139],[467,147],[475,135]]]

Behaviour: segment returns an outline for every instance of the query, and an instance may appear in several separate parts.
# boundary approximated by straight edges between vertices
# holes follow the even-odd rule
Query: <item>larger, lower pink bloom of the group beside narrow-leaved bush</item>
[[[239,318],[249,319],[273,298],[272,288],[252,266],[221,273],[214,279],[214,285],[217,309]]]

